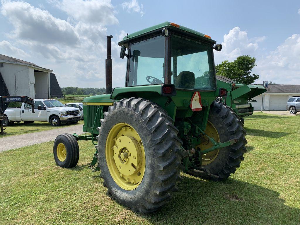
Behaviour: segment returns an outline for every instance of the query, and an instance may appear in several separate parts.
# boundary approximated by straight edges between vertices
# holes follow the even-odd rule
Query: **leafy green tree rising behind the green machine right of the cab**
[[[252,74],[253,67],[256,66],[255,58],[250,55],[242,55],[233,62],[225,60],[216,65],[216,74],[225,76],[243,84],[253,84],[259,78],[258,74]]]

